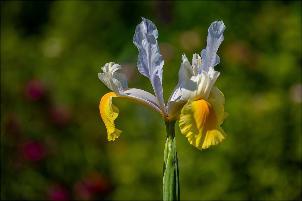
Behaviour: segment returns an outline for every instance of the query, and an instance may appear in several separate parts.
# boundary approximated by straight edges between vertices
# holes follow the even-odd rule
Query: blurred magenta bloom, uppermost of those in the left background
[[[43,83],[38,79],[29,81],[25,88],[26,97],[30,100],[40,99],[45,92]]]

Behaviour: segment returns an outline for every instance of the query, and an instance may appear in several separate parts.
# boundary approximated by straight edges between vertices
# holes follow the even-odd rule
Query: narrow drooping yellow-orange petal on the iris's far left
[[[112,104],[112,98],[117,97],[114,92],[105,94],[100,102],[100,112],[101,117],[107,128],[108,140],[115,140],[115,138],[120,137],[123,132],[115,128],[114,120],[117,118],[119,109]]]

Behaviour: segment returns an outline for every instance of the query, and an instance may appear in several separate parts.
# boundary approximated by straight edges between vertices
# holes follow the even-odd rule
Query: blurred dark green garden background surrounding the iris
[[[141,16],[159,30],[164,98],[182,53],[226,25],[217,86],[228,135],[199,151],[176,125],[181,199],[301,200],[301,1],[1,1],[1,199],[160,200],[165,124],[124,99],[107,141],[98,79],[110,61],[153,92],[132,43]]]

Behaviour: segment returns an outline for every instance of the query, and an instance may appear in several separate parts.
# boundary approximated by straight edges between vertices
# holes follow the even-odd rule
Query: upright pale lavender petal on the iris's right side
[[[210,68],[214,68],[220,62],[217,50],[223,41],[223,31],[225,28],[223,21],[215,21],[210,25],[207,36],[207,48],[200,53],[202,62],[198,69],[199,74],[202,70],[208,72]]]

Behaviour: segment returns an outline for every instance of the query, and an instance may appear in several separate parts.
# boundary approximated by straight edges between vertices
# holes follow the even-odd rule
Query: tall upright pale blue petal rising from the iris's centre
[[[140,73],[150,79],[159,106],[165,113],[166,108],[162,92],[162,66],[164,61],[156,40],[158,31],[153,22],[145,18],[142,19],[143,21],[137,25],[133,37],[133,43],[139,51],[137,66]]]

